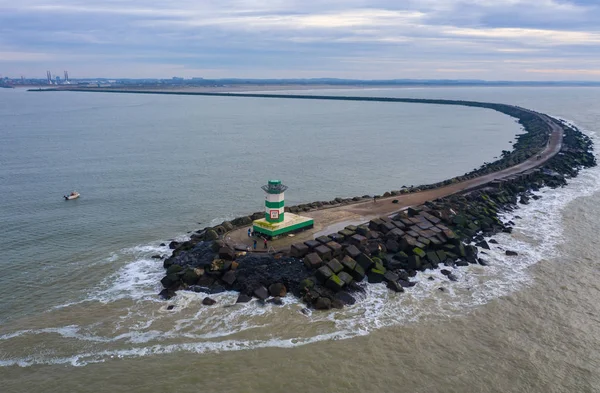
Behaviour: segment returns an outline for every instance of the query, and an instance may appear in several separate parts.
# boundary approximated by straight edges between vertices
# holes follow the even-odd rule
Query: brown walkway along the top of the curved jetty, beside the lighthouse
[[[292,236],[286,236],[280,239],[269,241],[268,249],[270,251],[284,250],[289,248],[289,246],[293,243],[304,242],[321,235],[328,235],[330,233],[342,230],[347,225],[364,223],[372,218],[384,215],[389,216],[410,206],[421,205],[427,201],[433,201],[448,195],[472,190],[494,180],[505,179],[515,174],[541,166],[560,151],[562,146],[563,131],[562,128],[552,122],[548,116],[540,116],[542,116],[542,119],[552,127],[553,131],[550,135],[548,145],[541,153],[541,158],[539,159],[532,157],[513,167],[433,190],[382,198],[378,199],[376,202],[370,200],[367,202],[359,202],[355,204],[306,212],[302,215],[311,217],[315,220],[315,226],[313,229]],[[398,203],[392,203],[392,201],[395,199],[398,200]],[[225,236],[225,241],[227,244],[238,249],[246,248],[250,250],[252,248],[253,239],[248,237],[248,228],[249,227],[244,227],[228,233]],[[266,252],[266,250],[263,248],[262,239],[258,239],[257,252]]]

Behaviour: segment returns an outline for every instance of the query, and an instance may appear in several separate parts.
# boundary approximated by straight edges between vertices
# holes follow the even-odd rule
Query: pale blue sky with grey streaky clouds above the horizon
[[[0,75],[600,81],[600,0],[0,0]]]

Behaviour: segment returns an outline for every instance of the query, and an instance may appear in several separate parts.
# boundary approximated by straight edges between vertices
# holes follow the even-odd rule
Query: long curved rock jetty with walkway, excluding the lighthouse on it
[[[252,239],[248,238],[248,228],[254,220],[264,218],[264,211],[204,228],[189,241],[172,242],[173,253],[164,260],[166,275],[161,280],[164,289],[160,296],[165,299],[178,290],[207,294],[234,290],[239,292],[238,302],[257,298],[281,304],[281,298],[290,292],[309,307],[329,309],[354,304],[369,284],[385,283],[394,292],[409,290],[415,285],[411,277],[417,271],[442,269],[448,281],[455,281],[453,269],[469,264],[485,266],[479,249],[489,249],[488,243],[495,242],[490,239],[494,234],[511,232],[512,223],[503,222],[501,213],[538,198],[532,191],[562,187],[582,168],[596,165],[592,141],[576,127],[511,105],[235,95],[474,106],[517,118],[525,133],[517,136],[514,150],[503,151],[499,160],[453,179],[404,187],[382,196],[335,198],[285,207],[285,211],[313,218],[315,226],[271,242],[271,252],[249,251]],[[363,221],[357,222],[359,219]],[[506,254],[516,255],[510,250]],[[212,305],[214,301],[206,298],[203,303]]]

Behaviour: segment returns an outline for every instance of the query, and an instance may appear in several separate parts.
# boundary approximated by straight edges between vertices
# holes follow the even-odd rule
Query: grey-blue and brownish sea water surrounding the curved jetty
[[[597,87],[302,94],[499,102],[600,132]],[[470,107],[0,89],[0,391],[599,392],[600,168],[506,214],[490,266],[457,282],[426,271],[308,314],[157,296],[161,244],[260,211],[268,179],[287,204],[382,194],[522,132]]]

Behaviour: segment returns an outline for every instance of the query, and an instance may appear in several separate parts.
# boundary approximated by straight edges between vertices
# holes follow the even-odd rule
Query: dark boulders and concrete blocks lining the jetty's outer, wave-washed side
[[[291,293],[315,309],[341,308],[360,300],[366,285],[384,284],[400,293],[415,285],[411,277],[417,272],[431,269],[442,269],[444,290],[457,279],[454,269],[487,264],[479,250],[498,247],[493,235],[512,230],[502,213],[539,198],[533,191],[562,187],[582,168],[596,165],[591,140],[574,127],[560,126],[561,151],[540,167],[391,217],[347,226],[285,252],[248,254],[220,240],[228,230],[248,225],[252,217],[205,228],[188,242],[173,245],[173,255],[164,261],[161,296],[169,298],[177,290],[234,290],[239,292],[238,302],[257,298],[281,304]],[[516,255],[511,250],[506,254]],[[206,298],[203,303],[214,301]]]

